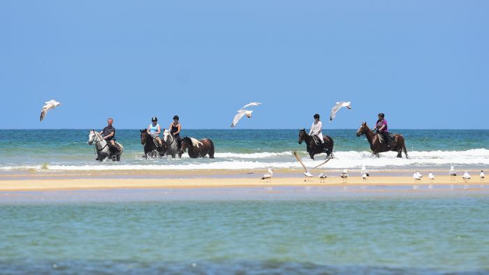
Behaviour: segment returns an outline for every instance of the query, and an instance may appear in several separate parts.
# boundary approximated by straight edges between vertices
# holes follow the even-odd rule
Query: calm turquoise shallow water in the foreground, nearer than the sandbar
[[[489,186],[368,188],[0,193],[0,273],[489,274]]]

